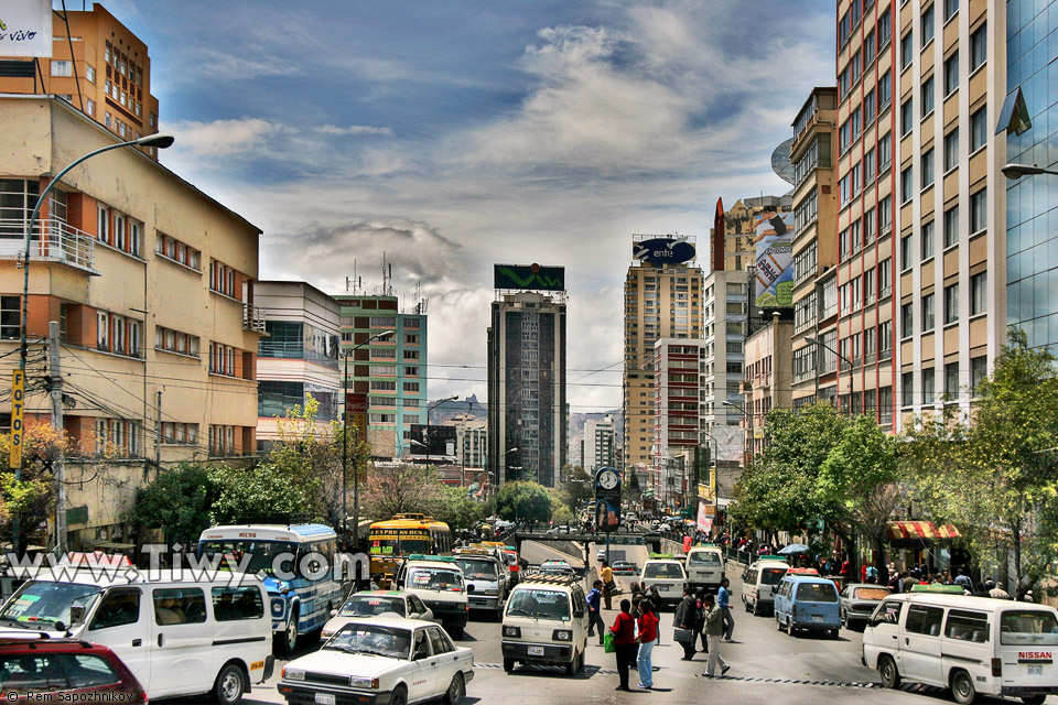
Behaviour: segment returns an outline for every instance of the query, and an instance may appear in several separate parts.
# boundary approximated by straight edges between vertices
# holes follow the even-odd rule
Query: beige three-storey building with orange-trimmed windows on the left
[[[117,138],[65,100],[0,98],[0,354],[18,366],[23,270],[36,195]],[[253,306],[260,230],[143,153],[67,174],[31,247],[28,423],[48,422],[42,338],[60,323],[72,547],[131,543],[137,487],[177,460],[255,452]],[[33,382],[36,382],[35,384]],[[106,455],[108,459],[101,459]]]

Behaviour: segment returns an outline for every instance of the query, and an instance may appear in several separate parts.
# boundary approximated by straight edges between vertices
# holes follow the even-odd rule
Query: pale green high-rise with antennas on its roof
[[[396,458],[409,455],[412,424],[427,423],[427,310],[425,301],[417,301],[411,313],[402,313],[392,289],[384,289],[381,294],[335,296],[342,304],[338,362],[344,375],[348,351],[348,389],[368,395],[371,453]],[[393,333],[367,343],[386,330]]]

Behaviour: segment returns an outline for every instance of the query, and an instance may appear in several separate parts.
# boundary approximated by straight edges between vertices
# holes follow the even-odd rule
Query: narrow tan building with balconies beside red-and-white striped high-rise
[[[836,115],[838,89],[816,88],[792,123],[795,409],[838,390]]]

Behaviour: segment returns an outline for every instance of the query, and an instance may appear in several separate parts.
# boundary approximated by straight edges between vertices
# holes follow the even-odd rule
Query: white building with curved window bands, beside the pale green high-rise
[[[306,282],[261,281],[255,288],[266,337],[257,356],[257,444],[267,451],[279,437],[279,420],[310,398],[316,425],[341,420],[338,340],[342,305]]]

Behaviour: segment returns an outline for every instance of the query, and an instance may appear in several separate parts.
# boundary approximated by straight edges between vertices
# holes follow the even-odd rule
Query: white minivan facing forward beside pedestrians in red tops
[[[516,663],[554,663],[576,674],[584,668],[587,627],[587,600],[576,577],[522,576],[504,611],[504,671]]]

